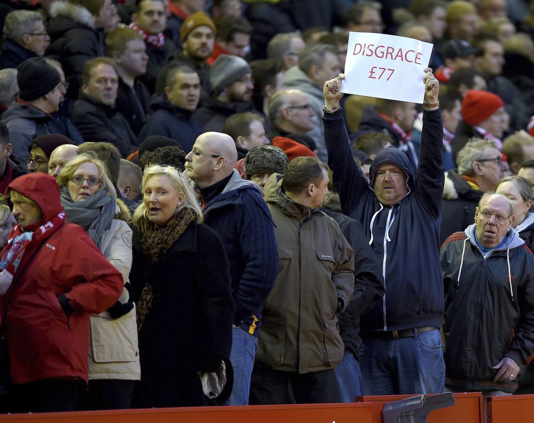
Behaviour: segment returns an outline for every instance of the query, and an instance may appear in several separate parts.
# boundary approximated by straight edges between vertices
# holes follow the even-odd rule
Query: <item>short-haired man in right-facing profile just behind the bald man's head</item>
[[[245,158],[248,151],[257,145],[269,144],[269,139],[265,136],[263,118],[256,113],[232,114],[226,119],[221,132],[230,135],[234,140],[238,160]]]

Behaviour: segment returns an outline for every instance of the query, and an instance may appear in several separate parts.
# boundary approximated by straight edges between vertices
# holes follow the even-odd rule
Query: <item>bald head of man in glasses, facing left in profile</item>
[[[210,187],[232,173],[237,162],[235,142],[230,135],[206,132],[199,135],[185,160],[187,178],[200,188]]]

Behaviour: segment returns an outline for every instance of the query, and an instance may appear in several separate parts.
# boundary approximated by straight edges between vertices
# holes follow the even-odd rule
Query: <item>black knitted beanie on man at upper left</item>
[[[32,57],[17,66],[19,98],[30,102],[50,93],[61,82],[59,72],[42,57]]]

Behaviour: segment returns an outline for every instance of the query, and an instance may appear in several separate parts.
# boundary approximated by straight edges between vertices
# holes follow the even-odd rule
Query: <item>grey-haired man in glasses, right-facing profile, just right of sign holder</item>
[[[497,143],[472,139],[458,153],[457,170],[445,177],[439,241],[463,230],[473,222],[475,208],[482,195],[493,190],[506,176],[508,165],[502,159]]]

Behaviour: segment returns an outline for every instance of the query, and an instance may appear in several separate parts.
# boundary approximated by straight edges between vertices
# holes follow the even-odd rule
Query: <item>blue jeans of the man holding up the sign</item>
[[[382,340],[362,336],[364,395],[440,394],[445,363],[439,330]]]

